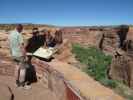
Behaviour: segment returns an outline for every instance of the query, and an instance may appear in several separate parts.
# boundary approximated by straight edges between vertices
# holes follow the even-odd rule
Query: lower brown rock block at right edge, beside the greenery
[[[131,84],[132,79],[132,59],[126,54],[116,54],[110,65],[109,77],[115,80],[122,81],[128,86]]]

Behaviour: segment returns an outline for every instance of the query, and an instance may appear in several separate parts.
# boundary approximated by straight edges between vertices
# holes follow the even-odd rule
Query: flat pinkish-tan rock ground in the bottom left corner
[[[2,85],[4,84],[4,85]],[[0,76],[1,100],[58,100],[53,92],[41,81],[32,84],[30,90],[17,88],[15,79],[10,76]]]

